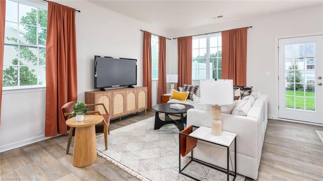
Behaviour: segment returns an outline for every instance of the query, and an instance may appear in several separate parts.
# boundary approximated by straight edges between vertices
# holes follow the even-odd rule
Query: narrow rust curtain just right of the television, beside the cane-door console
[[[143,52],[142,52],[142,63],[143,63],[143,86],[148,88],[148,109],[151,109],[151,81],[152,81],[152,67],[151,67],[151,33],[143,32]]]

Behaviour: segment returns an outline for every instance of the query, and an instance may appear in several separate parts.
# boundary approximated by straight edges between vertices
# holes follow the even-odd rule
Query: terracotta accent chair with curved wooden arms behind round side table
[[[64,116],[64,119],[67,120],[71,118],[71,114],[73,112],[73,106],[74,102],[68,102],[62,106],[62,114]],[[110,135],[110,114],[107,112],[104,104],[97,103],[97,104],[87,104],[87,107],[91,106],[103,106],[105,114],[101,114],[99,111],[88,111],[86,114],[99,114],[103,117],[103,121],[97,125],[95,125],[95,133],[104,133],[104,144],[105,144],[105,150],[107,150],[107,135]],[[67,148],[66,148],[66,154],[69,154],[71,142],[72,142],[72,136],[75,135],[75,129],[73,127],[70,127],[70,133],[67,140]]]

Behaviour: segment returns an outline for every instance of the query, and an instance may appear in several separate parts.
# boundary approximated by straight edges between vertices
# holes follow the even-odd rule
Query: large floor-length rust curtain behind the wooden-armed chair
[[[45,136],[67,133],[62,106],[77,101],[75,9],[48,2]]]

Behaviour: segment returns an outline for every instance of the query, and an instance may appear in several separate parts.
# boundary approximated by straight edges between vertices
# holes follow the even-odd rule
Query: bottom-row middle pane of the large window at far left
[[[37,85],[37,68],[21,66],[19,77],[21,86]]]

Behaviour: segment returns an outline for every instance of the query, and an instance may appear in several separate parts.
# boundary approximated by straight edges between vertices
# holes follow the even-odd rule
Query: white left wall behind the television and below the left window
[[[76,12],[78,101],[84,101],[85,91],[93,90],[94,55],[136,58],[138,85],[142,86],[143,33],[140,29],[168,37],[165,30],[86,1],[58,3],[81,10],[81,13]],[[0,151],[45,139],[44,89],[24,93],[7,91],[2,105]]]

